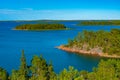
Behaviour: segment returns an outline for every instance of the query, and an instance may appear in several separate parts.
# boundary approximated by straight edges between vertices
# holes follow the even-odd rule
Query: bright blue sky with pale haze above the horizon
[[[0,20],[116,20],[120,0],[0,0]]]

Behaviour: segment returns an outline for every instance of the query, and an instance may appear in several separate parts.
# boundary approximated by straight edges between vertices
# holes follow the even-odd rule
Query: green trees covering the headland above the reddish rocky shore
[[[97,52],[108,53],[109,55],[120,55],[120,29],[112,29],[110,32],[83,31],[73,40],[68,40],[69,47],[77,47],[83,50],[98,48]]]

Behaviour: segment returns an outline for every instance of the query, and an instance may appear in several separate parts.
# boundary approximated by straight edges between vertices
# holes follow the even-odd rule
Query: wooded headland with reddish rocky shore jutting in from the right
[[[61,45],[59,49],[96,55],[101,57],[120,58],[120,29],[111,31],[83,31],[73,39],[68,40],[68,44]]]

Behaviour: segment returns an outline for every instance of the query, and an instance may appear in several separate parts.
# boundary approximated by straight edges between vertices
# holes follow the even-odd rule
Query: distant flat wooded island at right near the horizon
[[[120,26],[120,20],[85,20],[77,24],[81,25],[118,25]]]

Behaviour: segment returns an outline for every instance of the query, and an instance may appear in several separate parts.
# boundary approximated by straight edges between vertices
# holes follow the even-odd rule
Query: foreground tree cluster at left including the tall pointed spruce
[[[21,64],[19,70],[13,70],[11,80],[56,80],[57,76],[52,64],[47,64],[42,56],[34,56],[28,67],[24,51],[22,50]]]

